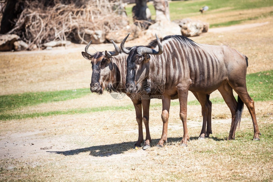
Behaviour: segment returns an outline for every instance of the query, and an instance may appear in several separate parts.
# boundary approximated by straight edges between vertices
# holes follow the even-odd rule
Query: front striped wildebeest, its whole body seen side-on
[[[129,36],[129,35],[128,35]],[[235,138],[235,130],[240,121],[243,103],[247,106],[253,121],[254,140],[259,140],[254,101],[246,89],[246,69],[248,58],[228,46],[198,44],[185,36],[166,36],[162,42],[156,36],[149,46],[124,47],[127,37],[121,42],[121,49],[127,57],[127,92],[137,92],[143,80],[164,83],[162,120],[168,125],[170,99],[178,94],[180,118],[184,135],[181,145],[187,146],[188,91],[197,92],[202,109],[205,108],[206,94],[219,90],[232,114],[228,139]],[[158,51],[156,51],[158,50]],[[238,102],[233,90],[238,93]],[[167,141],[167,129],[158,145]]]

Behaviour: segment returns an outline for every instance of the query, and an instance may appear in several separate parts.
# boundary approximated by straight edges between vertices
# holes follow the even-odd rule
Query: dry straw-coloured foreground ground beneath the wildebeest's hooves
[[[257,102],[259,126],[263,129],[273,124],[273,102]],[[213,112],[224,110],[215,106]],[[169,143],[164,148],[152,147],[147,151],[134,150],[137,138],[133,110],[112,111],[107,120],[103,112],[83,115],[65,115],[35,118],[1,123],[1,175],[2,180],[34,181],[260,181],[272,179],[272,165],[267,160],[256,160],[272,152],[263,139],[225,141],[230,119],[213,120],[212,138],[196,140],[202,123],[201,115],[188,121],[191,141],[188,147],[178,144],[182,136],[182,124],[177,107],[171,108]],[[197,106],[189,106],[188,114],[196,113]],[[151,109],[151,135],[156,144],[161,134],[160,109]],[[245,111],[246,113],[247,111]],[[122,116],[122,119],[120,118]],[[176,119],[173,119],[176,118]],[[197,120],[194,121],[194,120]],[[198,121],[199,120],[199,121]],[[16,128],[16,130],[14,130]],[[93,132],[99,128],[94,135]],[[237,132],[247,130],[251,135],[252,122],[243,115]],[[263,130],[261,130],[263,132]],[[251,138],[251,136],[248,136]],[[244,146],[247,145],[247,146]],[[240,147],[238,149],[238,146]],[[235,148],[233,148],[235,147]],[[41,149],[47,148],[47,149]],[[17,152],[17,151],[20,152]],[[256,157],[253,155],[255,154]],[[271,153],[272,154],[272,153]],[[270,154],[269,154],[270,155]],[[217,167],[216,167],[217,166]],[[114,174],[114,175],[113,175]],[[141,174],[141,175],[140,175]]]

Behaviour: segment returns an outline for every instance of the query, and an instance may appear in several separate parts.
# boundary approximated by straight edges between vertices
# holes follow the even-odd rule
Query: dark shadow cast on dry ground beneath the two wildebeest
[[[210,139],[213,139],[215,141],[224,140],[224,139],[219,139],[216,137],[210,137]],[[160,139],[154,139],[151,147],[155,147],[159,140]],[[168,138],[168,144],[179,143],[181,140],[182,140],[181,137]],[[198,140],[198,137],[190,137],[190,140]],[[66,150],[66,151],[47,151],[47,152],[61,154],[61,155],[65,155],[65,156],[77,155],[82,152],[90,152],[89,155],[92,155],[95,157],[105,157],[105,156],[109,157],[112,155],[122,154],[125,151],[128,151],[128,150],[134,148],[134,144],[135,144],[135,142],[122,142],[119,144],[90,146],[90,147],[77,148],[77,149]]]

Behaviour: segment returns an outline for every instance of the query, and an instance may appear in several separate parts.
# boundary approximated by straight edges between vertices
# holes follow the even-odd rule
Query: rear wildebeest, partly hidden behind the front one
[[[102,94],[103,90],[107,91],[117,91],[126,93],[125,88],[125,78],[127,63],[126,59],[128,55],[120,53],[119,47],[113,42],[115,47],[115,52],[96,52],[95,54],[88,53],[88,47],[91,44],[91,41],[86,45],[85,52],[82,52],[82,55],[91,61],[92,64],[92,78],[90,84],[90,90],[92,92],[97,92]],[[193,92],[197,99],[198,96]],[[149,107],[150,107],[150,96],[152,93],[142,93],[147,95],[148,99],[141,99],[141,97],[132,97],[132,94],[127,93],[131,98],[134,107],[136,109],[136,121],[138,123],[138,140],[135,146],[140,147],[143,142],[143,131],[142,131],[142,120],[146,127],[146,140],[143,146],[143,149],[150,147],[151,136],[149,131]],[[208,96],[208,95],[207,95]],[[143,97],[142,97],[143,98]],[[145,97],[144,97],[145,98]],[[171,99],[177,99],[177,94],[173,95]],[[200,137],[205,138],[205,135],[208,136],[211,132],[211,102],[209,97],[207,97],[205,103],[207,104],[207,113],[204,114],[204,121]],[[142,117],[143,109],[143,117]],[[204,112],[204,111],[203,111]],[[205,131],[205,125],[207,122],[207,130]],[[166,126],[164,128],[167,128]],[[206,133],[205,133],[206,132]]]

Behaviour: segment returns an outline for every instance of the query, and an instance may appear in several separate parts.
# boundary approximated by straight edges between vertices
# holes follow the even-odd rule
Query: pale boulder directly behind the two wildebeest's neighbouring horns
[[[139,36],[140,34],[140,28],[136,26],[135,24],[132,24],[131,26],[127,25],[121,30],[110,32],[106,35],[106,39],[108,41],[114,40],[116,43],[122,42],[125,36],[127,36],[129,33],[130,36],[128,37],[127,40],[132,40],[135,39]]]

